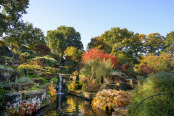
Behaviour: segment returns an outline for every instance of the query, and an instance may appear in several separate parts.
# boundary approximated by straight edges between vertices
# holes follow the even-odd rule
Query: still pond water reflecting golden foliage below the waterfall
[[[52,103],[39,110],[35,116],[111,116],[111,112],[96,111],[91,102],[80,97],[60,94]]]

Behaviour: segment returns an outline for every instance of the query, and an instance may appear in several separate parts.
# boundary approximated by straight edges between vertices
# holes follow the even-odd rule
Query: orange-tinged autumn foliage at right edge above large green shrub
[[[160,71],[173,71],[174,57],[170,53],[161,53],[159,56],[148,54],[143,56],[140,64],[136,64],[134,71],[143,76]]]

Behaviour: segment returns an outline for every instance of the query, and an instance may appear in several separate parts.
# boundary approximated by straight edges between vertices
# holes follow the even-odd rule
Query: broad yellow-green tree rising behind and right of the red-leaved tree
[[[111,54],[118,57],[121,64],[136,62],[141,56],[142,48],[139,34],[135,34],[126,28],[111,28],[102,34],[104,42],[112,48]]]

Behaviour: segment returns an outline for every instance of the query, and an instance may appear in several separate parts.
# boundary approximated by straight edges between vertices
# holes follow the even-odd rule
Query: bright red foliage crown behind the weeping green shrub
[[[117,60],[116,56],[110,55],[108,53],[103,53],[102,51],[100,51],[96,48],[92,48],[82,54],[82,60],[84,61],[84,63],[87,60],[92,60],[92,59],[95,60],[96,58],[100,58],[101,60],[103,60],[104,58],[105,58],[105,60],[111,59],[114,64],[114,67],[117,67],[118,60]]]

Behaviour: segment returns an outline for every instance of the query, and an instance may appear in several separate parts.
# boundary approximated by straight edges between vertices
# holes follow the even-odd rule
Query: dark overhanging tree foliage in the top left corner
[[[7,28],[13,28],[26,14],[29,0],[0,0],[0,36]]]

